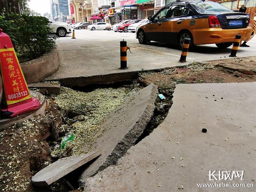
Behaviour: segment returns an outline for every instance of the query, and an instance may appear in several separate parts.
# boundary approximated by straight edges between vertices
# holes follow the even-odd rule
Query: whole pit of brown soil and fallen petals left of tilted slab
[[[30,179],[58,158],[88,152],[104,118],[137,88],[106,88],[80,92],[61,88],[46,97],[46,114],[0,132],[1,191],[38,191]],[[61,138],[74,140],[60,150]],[[88,150],[86,150],[88,149]],[[55,182],[47,191],[69,191],[66,182]]]

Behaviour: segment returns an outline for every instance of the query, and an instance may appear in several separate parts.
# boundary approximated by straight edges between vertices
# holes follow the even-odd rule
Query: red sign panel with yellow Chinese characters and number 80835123
[[[31,98],[14,48],[0,49],[0,67],[7,105]]]

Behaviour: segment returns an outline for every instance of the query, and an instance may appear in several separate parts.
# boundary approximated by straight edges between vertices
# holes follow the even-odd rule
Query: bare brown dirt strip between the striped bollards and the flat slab
[[[235,63],[240,68],[231,67]],[[243,67],[242,67],[243,66]],[[254,66],[254,70],[252,70]],[[161,72],[141,73],[140,83],[154,83],[164,90],[184,83],[231,83],[256,81],[256,57],[234,58],[210,62],[192,62],[182,68],[171,68]]]

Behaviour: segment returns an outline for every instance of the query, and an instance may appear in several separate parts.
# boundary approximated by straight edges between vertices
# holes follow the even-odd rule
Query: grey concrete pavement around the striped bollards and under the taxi
[[[132,52],[127,52],[126,70],[119,69],[120,41],[123,39]],[[60,67],[47,78],[49,80],[138,72],[181,66],[191,61],[224,59],[228,58],[232,48],[223,50],[215,45],[196,46],[192,52],[188,52],[187,62],[179,63],[181,51],[177,46],[159,42],[142,45],[134,33],[76,30],[76,39],[66,36],[57,41]],[[239,48],[238,57],[256,55],[256,43],[248,43],[251,47]]]

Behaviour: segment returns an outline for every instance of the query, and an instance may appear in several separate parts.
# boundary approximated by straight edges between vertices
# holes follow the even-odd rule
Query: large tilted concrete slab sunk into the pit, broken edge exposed
[[[101,150],[102,155],[86,168],[80,184],[84,185],[86,178],[115,164],[134,145],[154,114],[157,94],[157,86],[150,84],[126,99],[106,118],[102,125],[104,133],[92,147],[92,150]]]

